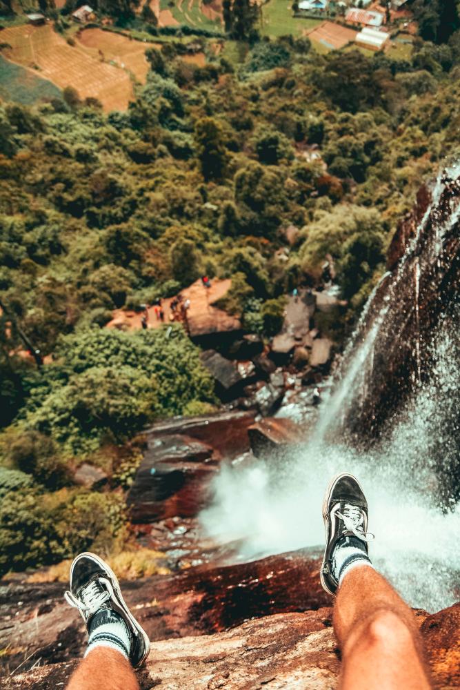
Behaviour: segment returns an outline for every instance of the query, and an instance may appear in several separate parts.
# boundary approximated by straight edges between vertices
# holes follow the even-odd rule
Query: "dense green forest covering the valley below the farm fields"
[[[222,55],[196,35],[151,48],[127,112],[106,115],[72,88],[0,101],[0,574],[123,549],[142,429],[217,405],[179,324],[108,330],[115,308],[228,277],[227,308],[268,339],[283,295],[317,286],[330,254],[348,303],[343,344],[399,219],[460,152],[456,4],[412,10],[408,60],[261,37],[238,1],[224,3]],[[197,40],[203,67],[183,60]],[[24,334],[51,363],[19,356]],[[82,462],[108,471],[110,491],[74,484]]]

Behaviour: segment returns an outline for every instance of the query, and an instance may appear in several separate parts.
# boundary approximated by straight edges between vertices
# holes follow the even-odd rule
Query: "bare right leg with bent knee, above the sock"
[[[374,569],[350,569],[339,587],[334,631],[341,644],[341,690],[430,690],[410,608]]]

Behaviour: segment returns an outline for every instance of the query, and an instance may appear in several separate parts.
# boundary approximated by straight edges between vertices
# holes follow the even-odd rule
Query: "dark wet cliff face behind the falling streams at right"
[[[439,357],[439,328],[458,328],[460,288],[459,168],[443,173],[430,188],[423,186],[412,213],[401,220],[388,250],[388,273],[352,339],[341,371],[363,351],[362,367],[350,379],[343,428],[355,438],[377,437],[401,406],[433,378]],[[365,355],[365,356],[364,356]],[[452,375],[459,371],[459,351],[450,353]],[[452,405],[445,428],[454,429]],[[459,446],[459,439],[452,444]],[[441,449],[440,449],[441,452]]]

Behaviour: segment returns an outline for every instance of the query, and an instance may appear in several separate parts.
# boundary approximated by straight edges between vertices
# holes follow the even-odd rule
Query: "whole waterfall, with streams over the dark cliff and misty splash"
[[[459,173],[460,166],[452,166],[448,177],[457,179]],[[371,295],[310,441],[289,457],[223,466],[212,505],[201,514],[206,533],[217,542],[237,544],[243,560],[321,546],[323,491],[332,475],[350,471],[359,477],[370,504],[370,529],[377,535],[372,560],[412,606],[428,611],[460,598],[460,504],[458,495],[446,493],[460,467],[460,345],[452,328],[460,310],[454,300],[431,319],[429,342],[426,327],[422,334],[426,286],[431,281],[439,295],[446,294],[440,275],[446,242],[451,252],[452,246],[455,251],[460,247],[460,239],[452,244],[459,235],[460,204],[453,197],[446,201],[446,179],[437,179],[431,204],[397,269],[383,276]],[[409,275],[417,280],[415,299]],[[408,304],[401,304],[405,286]],[[419,342],[418,351],[414,342],[407,344],[414,359],[406,372],[412,387],[401,386],[399,408],[393,405],[390,414],[382,415],[378,440],[363,445],[354,422],[368,419],[372,395],[377,391],[383,400],[383,384],[387,378],[394,382],[388,375],[391,359],[385,357],[388,342],[406,337],[410,319],[414,342]],[[376,414],[379,409],[373,408]]]

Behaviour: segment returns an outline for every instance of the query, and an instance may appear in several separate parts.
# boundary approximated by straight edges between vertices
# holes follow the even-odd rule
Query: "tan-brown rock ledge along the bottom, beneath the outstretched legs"
[[[418,612],[435,687],[459,687],[460,605],[436,615]],[[340,652],[332,631],[332,609],[281,613],[250,620],[232,630],[152,644],[138,671],[141,690],[333,690]],[[19,673],[0,682],[1,690],[64,687],[77,661]]]

